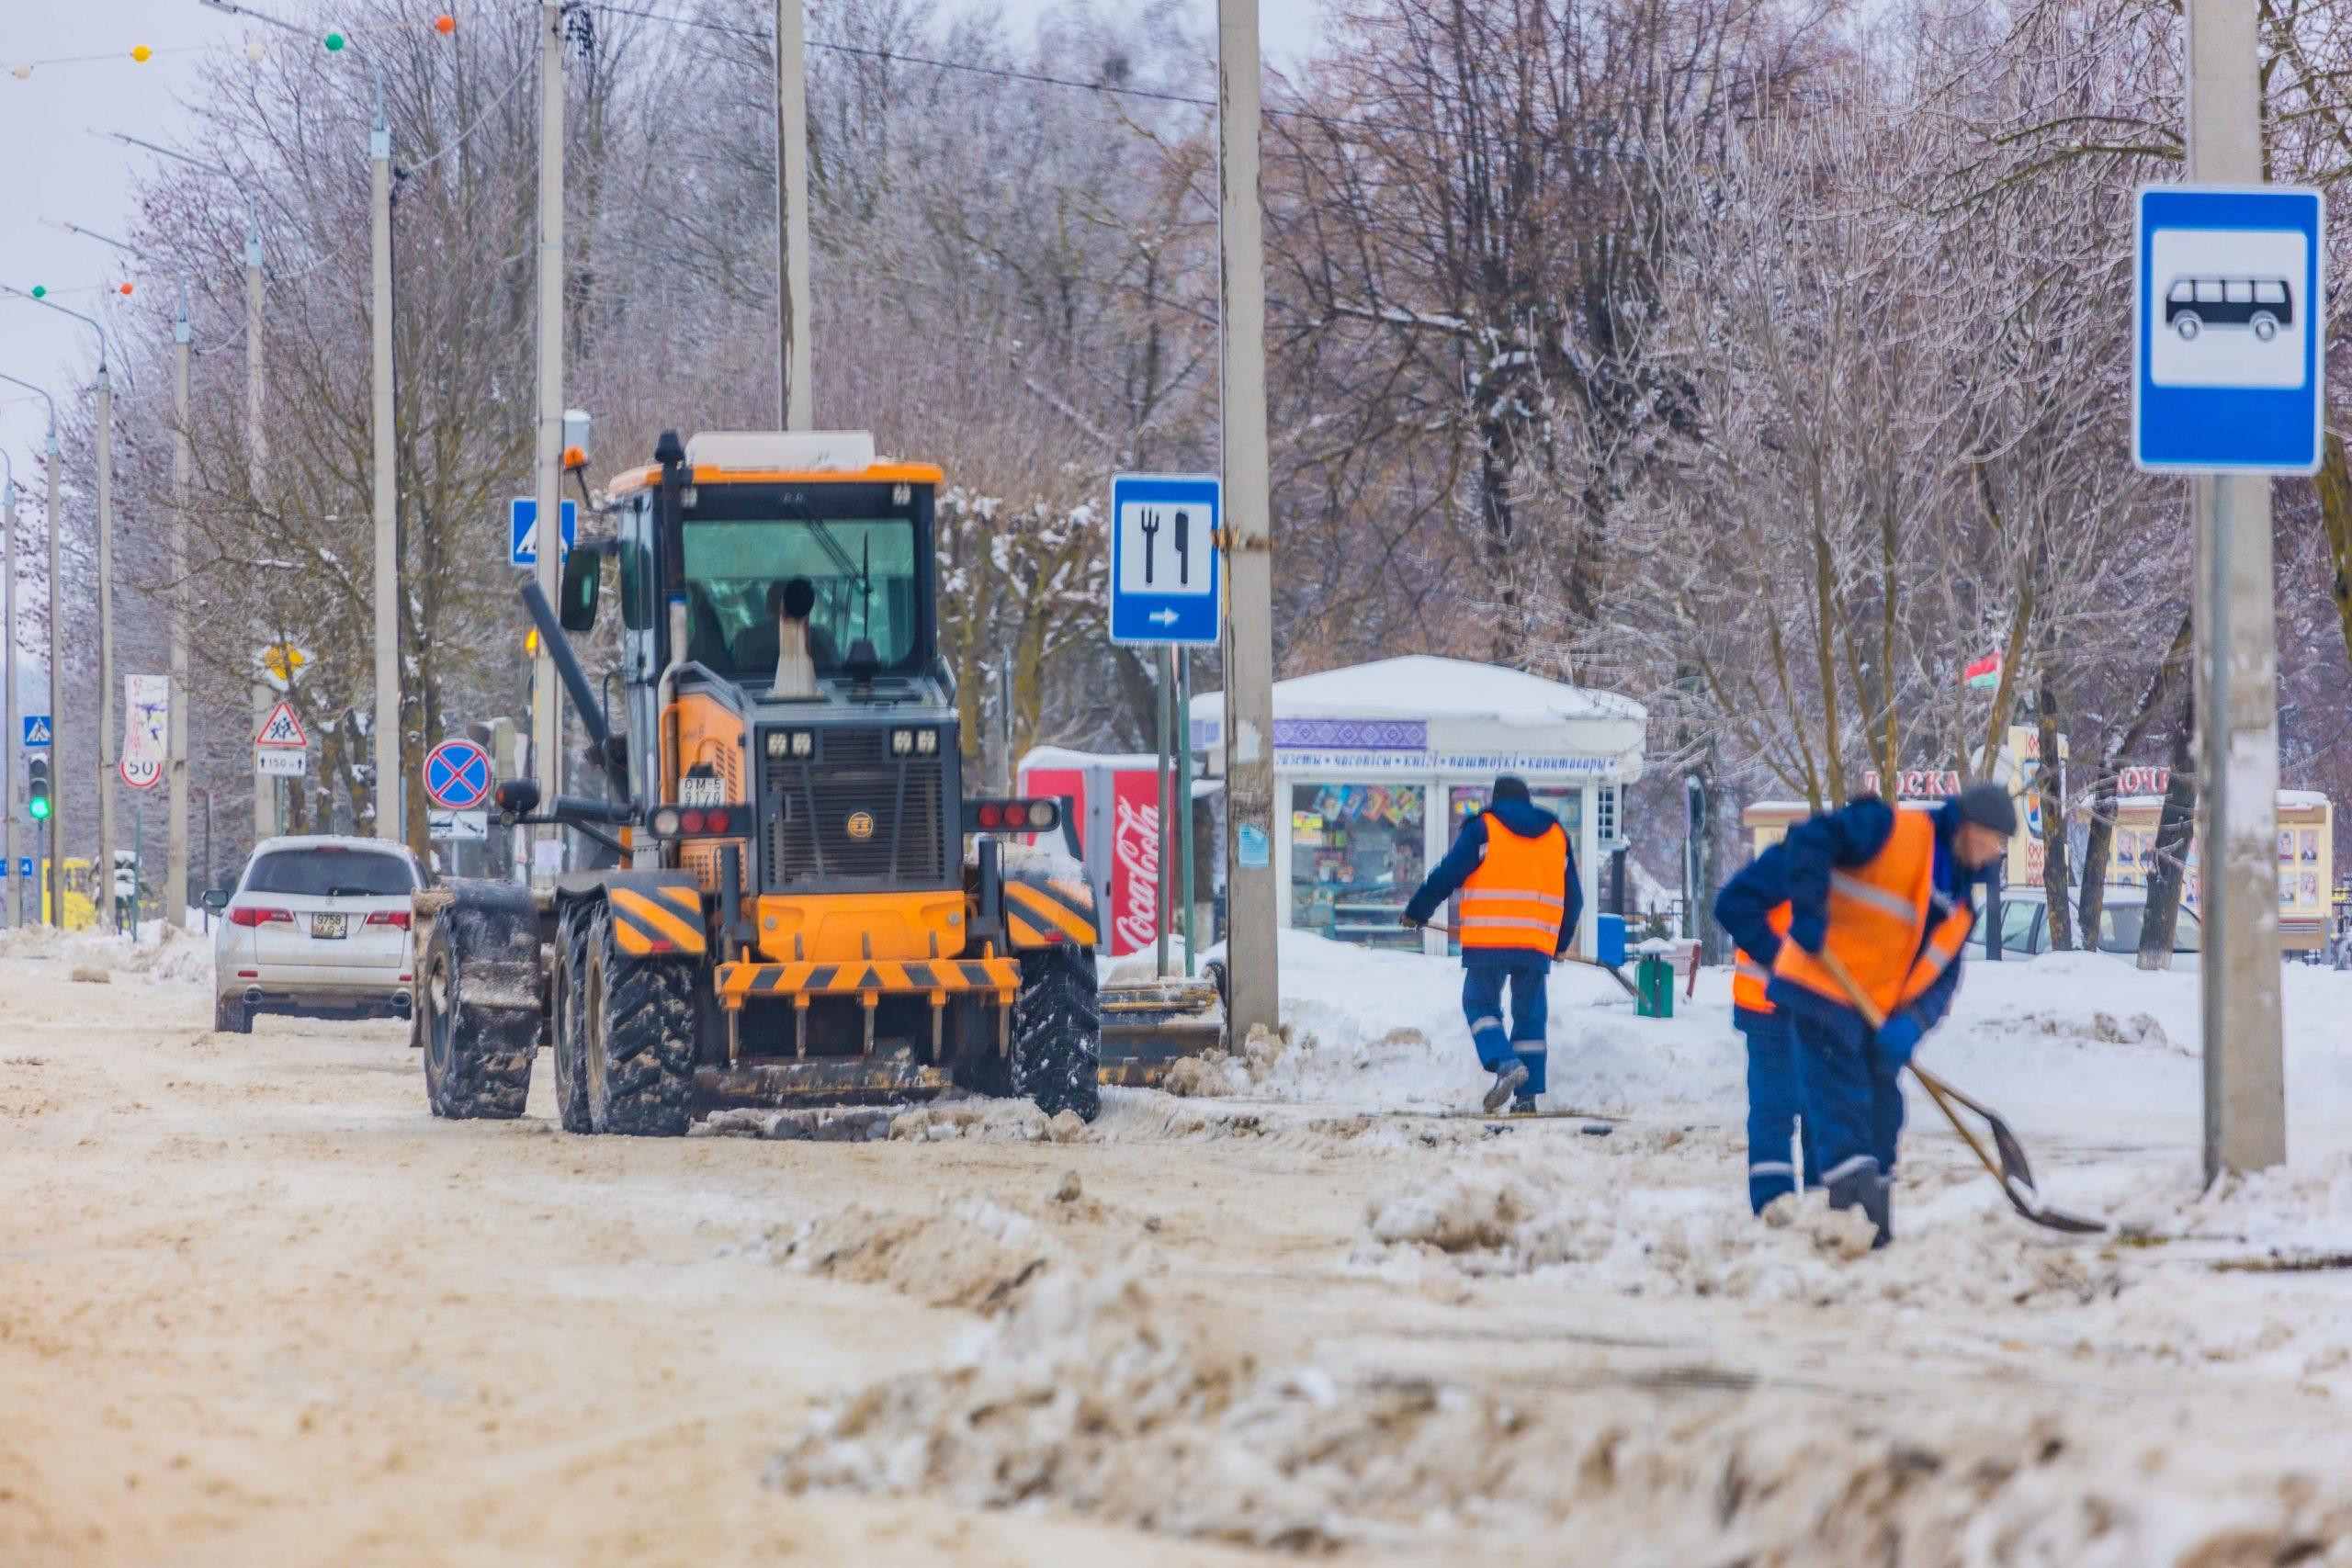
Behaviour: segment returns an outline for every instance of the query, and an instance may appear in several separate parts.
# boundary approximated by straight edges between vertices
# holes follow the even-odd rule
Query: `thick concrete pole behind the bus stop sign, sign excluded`
[[[2260,186],[2256,0],[2190,0],[2190,183]],[[2204,1168],[2286,1159],[2279,1053],[2279,639],[2270,480],[2190,480],[2204,799]]]

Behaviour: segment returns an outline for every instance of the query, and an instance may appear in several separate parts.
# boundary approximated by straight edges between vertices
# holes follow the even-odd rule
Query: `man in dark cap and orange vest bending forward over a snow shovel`
[[[1959,987],[1959,945],[1976,926],[1973,886],[2018,830],[1994,783],[1933,811],[1863,795],[1788,832],[1788,940],[1764,994],[1790,1016],[1806,1133],[1830,1208],[1860,1208],[1893,1237],[1896,1138],[1919,1037]],[[1870,1027],[1858,987],[1886,1018]]]

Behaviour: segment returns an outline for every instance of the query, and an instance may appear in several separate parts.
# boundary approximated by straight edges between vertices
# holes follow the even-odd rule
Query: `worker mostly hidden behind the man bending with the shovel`
[[[1731,1025],[1748,1037],[1748,1206],[1755,1213],[1797,1192],[1797,1131],[1804,1119],[1797,1046],[1788,1013],[1764,994],[1788,919],[1788,849],[1769,844],[1715,896],[1715,924],[1738,945],[1731,954]],[[1804,1185],[1820,1185],[1809,1143]]]

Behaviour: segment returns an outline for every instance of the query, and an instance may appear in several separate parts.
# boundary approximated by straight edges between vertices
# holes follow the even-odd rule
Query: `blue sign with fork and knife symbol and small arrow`
[[[1225,602],[1216,475],[1110,480],[1110,639],[1209,646]]]

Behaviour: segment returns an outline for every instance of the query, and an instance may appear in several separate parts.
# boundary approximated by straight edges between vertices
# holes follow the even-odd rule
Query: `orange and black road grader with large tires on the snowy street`
[[[1094,893],[1009,842],[1058,830],[1058,802],[964,797],[941,473],[880,463],[861,433],[666,433],[654,458],[607,491],[612,536],[572,552],[562,607],[524,588],[602,797],[496,792],[600,870],[419,893],[433,1110],[522,1114],[546,1044],[583,1133],[950,1088],[1091,1119]],[[597,621],[604,557],[619,726],[567,637]]]

